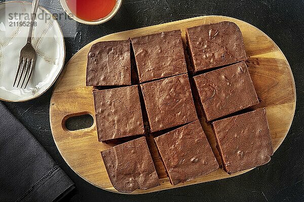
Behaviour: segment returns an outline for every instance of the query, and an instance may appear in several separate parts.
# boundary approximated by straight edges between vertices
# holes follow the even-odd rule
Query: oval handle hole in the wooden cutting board
[[[94,118],[90,114],[74,114],[65,117],[62,121],[64,129],[69,131],[90,128],[94,124]]]

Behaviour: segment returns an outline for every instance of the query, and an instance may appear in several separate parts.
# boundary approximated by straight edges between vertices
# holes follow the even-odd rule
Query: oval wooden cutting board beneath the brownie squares
[[[246,53],[249,58],[247,65],[260,100],[260,104],[255,108],[266,108],[274,149],[276,150],[280,146],[290,128],[296,100],[294,79],[285,56],[271,38],[246,22],[224,16],[203,16],[113,33],[89,43],[70,59],[58,78],[53,91],[50,104],[50,122],[54,141],[60,154],[73,171],[97,187],[118,192],[113,188],[108,178],[100,155],[101,150],[107,149],[111,145],[98,142],[92,87],[86,86],[87,54],[92,44],[97,41],[123,40],[129,37],[175,29],[181,29],[182,38],[185,42],[185,29],[187,27],[220,21],[235,22],[242,31]],[[83,114],[90,114],[94,117],[94,124],[90,128],[77,131],[66,129],[65,121],[69,117]],[[203,125],[209,142],[220,162],[210,125]],[[147,140],[150,145],[153,145],[152,138],[147,138]],[[206,176],[172,186],[157,151],[151,149],[151,153],[161,185],[148,190],[138,189],[132,194],[218,180],[249,171],[229,175],[222,169],[218,169]]]

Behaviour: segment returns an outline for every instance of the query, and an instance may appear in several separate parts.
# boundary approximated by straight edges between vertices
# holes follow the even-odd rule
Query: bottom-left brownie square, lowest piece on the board
[[[120,192],[160,185],[145,137],[101,151],[101,156],[113,187]]]

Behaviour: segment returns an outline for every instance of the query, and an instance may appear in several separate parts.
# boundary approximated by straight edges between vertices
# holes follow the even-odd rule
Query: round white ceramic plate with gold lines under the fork
[[[28,33],[31,4],[6,2],[0,4],[0,99],[23,102],[33,99],[55,82],[65,58],[64,38],[58,22],[46,9],[40,7],[32,43],[37,60],[26,89],[13,87],[21,48]]]

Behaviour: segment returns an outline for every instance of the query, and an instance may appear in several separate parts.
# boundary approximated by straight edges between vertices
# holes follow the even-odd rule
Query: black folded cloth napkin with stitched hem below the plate
[[[0,102],[0,201],[53,201],[73,182]]]

